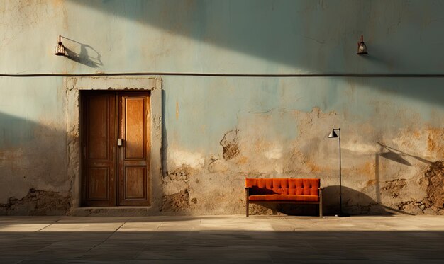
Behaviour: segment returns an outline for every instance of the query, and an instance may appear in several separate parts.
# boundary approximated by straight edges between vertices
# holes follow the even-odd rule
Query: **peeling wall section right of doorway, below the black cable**
[[[245,176],[294,176],[321,178],[333,212],[338,141],[327,135],[341,127],[348,212],[442,212],[440,79],[190,82],[208,85],[191,90],[197,100],[166,91],[165,210],[240,213]]]

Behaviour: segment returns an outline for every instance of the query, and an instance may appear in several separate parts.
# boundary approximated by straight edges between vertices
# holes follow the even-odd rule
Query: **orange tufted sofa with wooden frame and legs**
[[[246,214],[250,203],[294,203],[319,205],[322,217],[321,179],[316,178],[246,178]]]

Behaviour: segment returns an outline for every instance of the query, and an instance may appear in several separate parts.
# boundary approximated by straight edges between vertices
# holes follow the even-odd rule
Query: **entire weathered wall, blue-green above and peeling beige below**
[[[1,1],[0,11],[3,74],[444,69],[439,1]],[[69,57],[52,55],[60,34]],[[243,213],[246,176],[319,177],[335,212],[332,127],[345,211],[443,213],[444,79],[160,78],[161,213]],[[0,95],[0,214],[67,212],[63,78],[0,77]]]

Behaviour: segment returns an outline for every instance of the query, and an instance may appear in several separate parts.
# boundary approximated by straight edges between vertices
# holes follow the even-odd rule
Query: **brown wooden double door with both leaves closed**
[[[81,98],[82,205],[150,205],[150,93]]]

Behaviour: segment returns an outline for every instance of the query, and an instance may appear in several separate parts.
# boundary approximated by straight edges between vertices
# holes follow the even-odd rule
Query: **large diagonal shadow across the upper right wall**
[[[120,16],[135,23],[160,28],[166,35],[182,35],[194,41],[250,54],[265,62],[298,67],[308,73],[440,73],[436,70],[440,67],[430,64],[431,60],[435,60],[435,50],[439,50],[440,42],[428,41],[429,47],[424,49],[425,40],[411,38],[411,23],[407,21],[408,23],[399,24],[399,16],[409,12],[412,19],[418,20],[426,13],[431,16],[424,18],[426,20],[440,16],[442,4],[437,3],[404,5],[404,2],[399,1],[387,5],[374,1],[344,1],[344,4],[323,3],[324,1],[261,1],[260,4],[257,1],[70,1],[109,16]],[[394,16],[387,16],[387,7],[401,10]],[[341,18],[340,21],[338,17]],[[375,22],[380,19],[383,21],[379,24]],[[360,28],[356,27],[357,24],[361,25]],[[386,24],[388,29],[384,27]],[[399,24],[399,30],[393,36],[390,35],[393,37],[392,42],[387,42],[385,33],[396,24]],[[338,33],[335,28],[332,30],[332,25],[343,30]],[[377,29],[381,29],[376,30],[372,36],[377,43],[367,42],[370,54],[367,57],[357,56],[355,49],[357,38],[362,33],[360,30],[370,31],[371,28],[375,32],[376,25]],[[423,38],[427,35],[435,40],[435,32],[439,28],[439,23],[430,23],[418,35]],[[433,35],[429,36],[430,33]],[[406,40],[409,40],[409,46],[405,45]],[[414,52],[404,52],[404,49]],[[418,69],[425,72],[418,72]],[[387,81],[387,78],[374,78],[371,81],[354,78],[351,81],[395,96],[444,105],[442,79],[439,78],[428,79],[426,85],[422,78],[406,79],[401,83],[399,78],[394,81]]]

